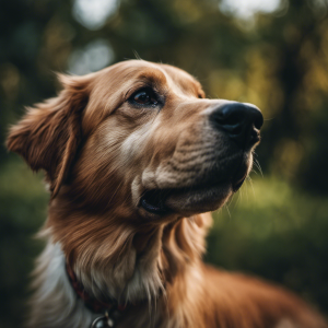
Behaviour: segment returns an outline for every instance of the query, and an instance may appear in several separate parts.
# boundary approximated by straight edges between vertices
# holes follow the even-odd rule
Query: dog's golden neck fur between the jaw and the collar
[[[71,208],[65,213],[65,209],[58,203],[50,206],[47,226],[51,238],[60,243],[89,294],[119,304],[151,303],[165,294],[167,283],[200,260],[210,222],[202,214],[132,225],[127,223],[133,222],[131,218],[118,218],[117,213],[104,219]]]

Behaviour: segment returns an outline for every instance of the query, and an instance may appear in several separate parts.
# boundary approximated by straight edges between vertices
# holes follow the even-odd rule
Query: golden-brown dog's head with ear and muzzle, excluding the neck
[[[8,140],[46,171],[52,198],[63,186],[90,209],[189,216],[220,208],[250,171],[259,109],[206,98],[180,69],[130,60],[61,82]]]

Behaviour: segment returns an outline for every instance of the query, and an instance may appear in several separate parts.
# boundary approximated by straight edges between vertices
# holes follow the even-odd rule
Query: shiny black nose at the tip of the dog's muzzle
[[[259,141],[263,116],[255,106],[230,103],[216,108],[211,114],[210,121],[216,129],[227,132],[231,139],[245,149]]]

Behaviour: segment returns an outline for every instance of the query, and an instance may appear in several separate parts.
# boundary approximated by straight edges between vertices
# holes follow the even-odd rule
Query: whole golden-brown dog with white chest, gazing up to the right
[[[59,79],[8,138],[51,192],[30,327],[327,327],[292,293],[201,260],[209,212],[250,172],[256,106],[143,60]]]

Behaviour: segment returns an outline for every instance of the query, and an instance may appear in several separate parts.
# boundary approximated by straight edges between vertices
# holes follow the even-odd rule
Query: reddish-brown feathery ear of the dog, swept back
[[[81,116],[90,94],[90,75],[58,75],[63,90],[56,98],[27,108],[10,130],[7,147],[22,155],[33,171],[44,169],[55,198],[82,138]]]

